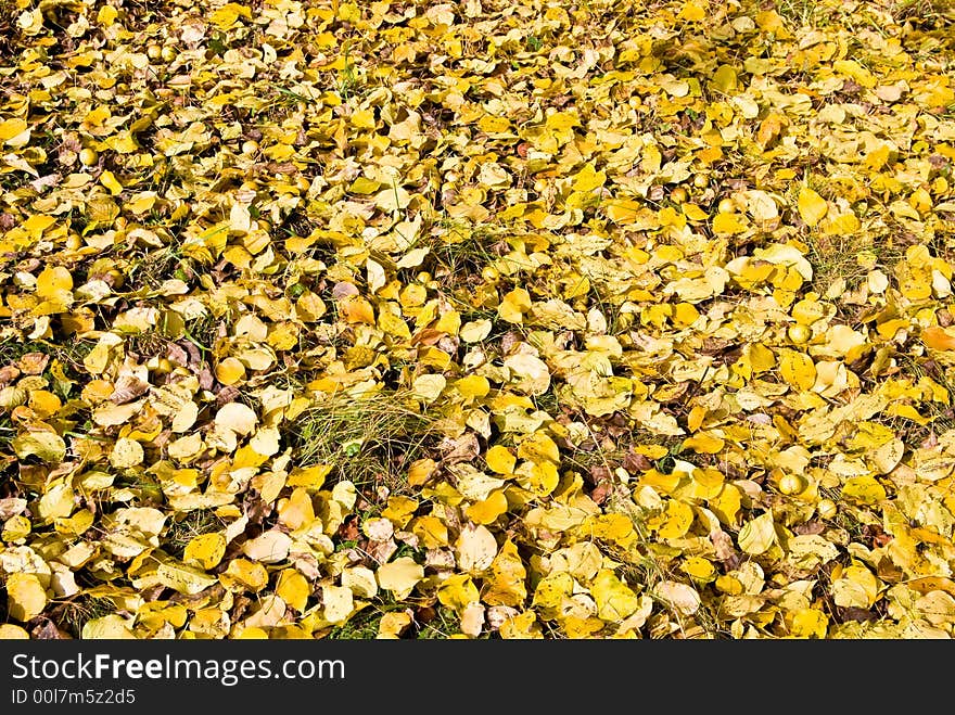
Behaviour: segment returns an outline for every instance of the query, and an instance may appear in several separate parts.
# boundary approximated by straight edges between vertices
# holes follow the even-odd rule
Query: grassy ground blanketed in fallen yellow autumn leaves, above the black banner
[[[0,5],[0,636],[955,635],[950,3]]]

